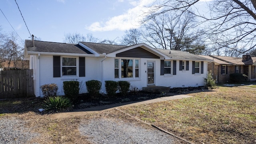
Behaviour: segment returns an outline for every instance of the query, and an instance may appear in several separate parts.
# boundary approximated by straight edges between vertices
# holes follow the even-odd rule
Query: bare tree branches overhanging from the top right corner
[[[208,14],[191,11],[191,8],[196,8],[199,2],[200,0],[167,0],[161,4],[155,3],[152,5],[151,15],[145,21],[168,12],[182,14],[190,12],[202,19],[201,22],[206,25],[209,40],[211,44],[217,44],[216,48],[229,48],[240,53],[255,48],[255,0],[213,0],[208,5]]]

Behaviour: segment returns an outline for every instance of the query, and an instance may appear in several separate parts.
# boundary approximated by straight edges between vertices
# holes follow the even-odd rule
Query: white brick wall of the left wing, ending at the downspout
[[[32,57],[32,56],[30,56]],[[36,61],[36,70],[34,71],[34,93],[36,97],[43,97],[42,91],[40,90],[40,86],[44,84],[57,84],[58,85],[58,95],[64,95],[63,91],[63,82],[64,81],[70,81],[70,80],[77,80],[79,82],[82,82],[82,88],[80,90],[80,93],[86,93],[86,85],[85,82],[88,80],[100,80],[100,58],[85,58],[85,77],[78,77],[78,76],[65,76],[65,77],[59,77],[54,78],[53,77],[53,56],[49,55],[40,55],[40,58],[38,59],[38,56],[35,58],[34,61]],[[77,58],[77,65],[78,65],[78,57]],[[40,70],[40,73],[37,72]],[[79,71],[79,68],[77,67],[77,74]]]

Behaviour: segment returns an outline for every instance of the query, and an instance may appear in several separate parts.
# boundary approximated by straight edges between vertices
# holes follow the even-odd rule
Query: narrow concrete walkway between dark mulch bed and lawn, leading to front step
[[[166,97],[162,97],[162,98],[155,98],[152,100],[144,100],[144,101],[136,101],[136,102],[125,102],[125,103],[120,103],[120,104],[110,104],[110,105],[104,105],[104,106],[95,106],[95,107],[91,107],[91,108],[84,108],[84,109],[79,109],[79,110],[75,110],[72,112],[60,112],[57,114],[52,114],[51,118],[52,119],[58,119],[58,118],[68,118],[70,116],[84,116],[87,114],[91,114],[91,113],[99,113],[99,112],[103,112],[105,110],[111,110],[114,108],[120,108],[120,107],[125,107],[125,106],[136,106],[136,105],[140,105],[140,104],[151,104],[154,102],[163,102],[166,100],[176,100],[176,99],[181,99],[181,98],[189,98],[192,96],[188,96],[188,95],[184,95],[184,94],[180,94],[180,95],[175,95],[175,96],[166,96]]]

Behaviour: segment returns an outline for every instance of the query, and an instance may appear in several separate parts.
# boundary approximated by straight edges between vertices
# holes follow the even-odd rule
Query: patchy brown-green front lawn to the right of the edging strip
[[[120,109],[194,143],[255,143],[256,90],[220,86],[188,95]]]

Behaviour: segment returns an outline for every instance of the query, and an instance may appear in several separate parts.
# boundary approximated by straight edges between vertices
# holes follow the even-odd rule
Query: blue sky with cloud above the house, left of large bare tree
[[[155,0],[16,0],[31,34],[42,41],[63,42],[64,34],[88,33],[100,40],[122,38],[137,28],[143,12]],[[203,0],[204,1],[204,0]],[[208,0],[209,1],[209,0]],[[0,9],[18,35],[30,39],[15,0],[0,0]],[[202,3],[203,4],[203,3]],[[204,7],[204,6],[200,6]],[[14,31],[0,12],[4,32]]]

